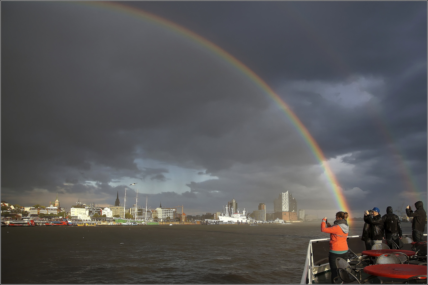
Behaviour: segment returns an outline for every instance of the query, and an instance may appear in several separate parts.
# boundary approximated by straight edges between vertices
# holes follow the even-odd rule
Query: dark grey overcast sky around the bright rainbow
[[[123,4],[265,80],[318,142],[352,217],[426,201],[426,2]],[[128,187],[192,215],[232,198],[273,211],[289,190],[308,213],[342,210],[284,112],[196,41],[99,4],[1,13],[2,200],[47,206],[58,192],[62,207],[104,206]]]

